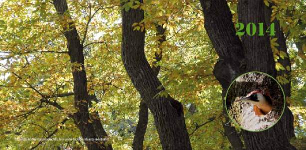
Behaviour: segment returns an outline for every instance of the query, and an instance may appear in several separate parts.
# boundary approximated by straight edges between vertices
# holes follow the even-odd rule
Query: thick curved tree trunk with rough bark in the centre
[[[145,57],[145,33],[133,30],[132,24],[143,18],[141,8],[130,8],[128,11],[122,9],[121,52],[124,67],[154,116],[163,149],[191,149],[183,106],[170,95],[158,96],[165,89]]]

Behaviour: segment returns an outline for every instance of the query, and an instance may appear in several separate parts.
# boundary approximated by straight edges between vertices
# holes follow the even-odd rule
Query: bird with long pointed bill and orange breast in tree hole
[[[253,90],[236,101],[247,101],[254,105],[255,115],[266,115],[272,110],[273,102],[270,94],[261,90]]]

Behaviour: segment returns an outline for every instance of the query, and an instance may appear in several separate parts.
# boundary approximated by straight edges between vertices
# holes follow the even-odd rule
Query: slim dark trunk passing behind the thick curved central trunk
[[[160,37],[158,39],[158,45],[157,47],[159,50],[161,49],[162,42],[166,41],[166,35],[165,28],[163,28],[161,25],[157,25],[157,34],[156,36]],[[155,66],[157,62],[159,62],[162,58],[162,51],[155,52],[155,60],[153,61],[152,70],[154,72],[154,75],[157,77],[160,66]],[[141,99],[140,105],[139,105],[139,116],[138,116],[138,123],[136,126],[136,131],[133,138],[133,149],[134,150],[142,150],[143,149],[143,140],[144,135],[146,133],[147,124],[148,124],[148,117],[149,117],[149,111],[148,111],[148,105],[145,103],[143,98]]]

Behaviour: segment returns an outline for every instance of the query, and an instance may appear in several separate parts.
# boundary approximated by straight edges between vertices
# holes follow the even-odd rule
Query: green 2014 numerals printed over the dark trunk
[[[259,36],[264,36],[264,23],[260,22],[258,23],[259,26],[259,31],[258,31],[258,35]],[[245,34],[244,28],[245,28],[245,24],[239,22],[235,24],[235,27],[237,28],[237,32],[236,35],[242,36]],[[253,22],[250,22],[247,24],[246,27],[246,32],[248,35],[253,36],[257,33],[257,27],[256,24]],[[270,33],[270,36],[275,36],[275,25],[274,23],[271,23],[270,26],[268,26],[266,33]]]

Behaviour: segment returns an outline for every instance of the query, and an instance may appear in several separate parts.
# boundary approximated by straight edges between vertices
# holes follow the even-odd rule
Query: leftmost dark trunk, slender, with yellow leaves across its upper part
[[[107,134],[101,124],[98,117],[90,116],[88,112],[88,104],[94,97],[89,97],[87,92],[87,78],[84,67],[84,54],[83,45],[80,42],[80,37],[77,30],[73,24],[73,21],[67,13],[68,6],[66,0],[54,0],[53,1],[56,12],[60,16],[61,26],[64,30],[64,36],[67,39],[68,54],[70,56],[71,63],[78,63],[81,67],[75,70],[72,68],[73,75],[73,92],[74,92],[74,107],[77,112],[73,114],[73,119],[77,127],[79,128],[83,139],[85,138],[106,138]],[[68,19],[65,19],[68,18]],[[68,27],[67,27],[68,26]],[[88,120],[91,117],[95,118],[92,123]],[[94,141],[94,140],[84,140],[88,149],[112,149],[110,144],[106,144],[106,141]]]

